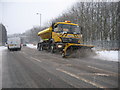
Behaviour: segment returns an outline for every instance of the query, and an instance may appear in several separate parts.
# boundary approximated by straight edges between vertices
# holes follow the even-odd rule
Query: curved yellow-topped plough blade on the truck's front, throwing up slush
[[[69,44],[64,49],[62,57],[89,57],[95,55],[94,46],[82,44]]]

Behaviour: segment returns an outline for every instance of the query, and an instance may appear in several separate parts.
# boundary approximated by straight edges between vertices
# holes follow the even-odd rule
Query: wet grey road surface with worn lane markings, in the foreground
[[[23,47],[3,51],[2,88],[117,88],[118,63],[62,58]]]

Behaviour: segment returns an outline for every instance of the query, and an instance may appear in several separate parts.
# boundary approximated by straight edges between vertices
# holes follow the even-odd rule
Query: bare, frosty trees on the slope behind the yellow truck
[[[69,20],[83,28],[85,43],[118,48],[118,6],[118,2],[77,2],[59,17],[49,21],[49,24]],[[39,31],[40,28],[33,28],[29,31],[32,35],[28,36],[31,37],[31,40],[38,41],[37,33]]]

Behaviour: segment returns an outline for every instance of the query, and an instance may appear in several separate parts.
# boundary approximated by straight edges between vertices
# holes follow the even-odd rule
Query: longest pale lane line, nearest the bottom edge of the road
[[[95,86],[95,87],[98,87],[98,88],[106,88],[106,87],[104,87],[104,86],[102,86],[102,85],[100,85],[100,84],[94,83],[94,82],[92,82],[92,81],[90,81],[90,80],[87,80],[87,79],[85,79],[85,78],[82,78],[82,77],[80,77],[80,76],[78,76],[78,75],[75,75],[75,74],[70,73],[70,72],[68,72],[68,71],[65,71],[65,70],[63,70],[63,69],[57,68],[56,70],[61,71],[61,72],[65,73],[65,74],[68,74],[68,75],[70,75],[70,76],[72,76],[72,77],[74,77],[74,78],[77,78],[77,79],[79,79],[79,80],[82,80],[82,81],[84,81],[84,82],[86,82],[86,83],[89,83],[89,84],[91,84],[91,85],[93,85],[93,86]]]

